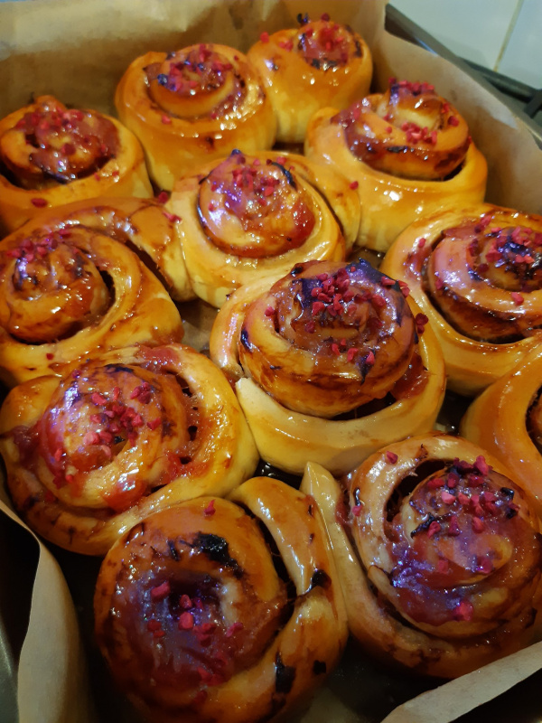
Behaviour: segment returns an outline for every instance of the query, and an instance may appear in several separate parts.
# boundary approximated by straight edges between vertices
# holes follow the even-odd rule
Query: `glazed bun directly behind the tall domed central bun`
[[[262,274],[309,259],[345,258],[360,224],[348,181],[302,156],[234,151],[173,188],[167,208],[194,290],[220,306]]]

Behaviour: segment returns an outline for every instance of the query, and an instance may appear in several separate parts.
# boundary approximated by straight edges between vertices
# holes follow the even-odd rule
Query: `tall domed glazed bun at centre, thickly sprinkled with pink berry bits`
[[[430,328],[364,261],[307,262],[238,289],[213,325],[210,354],[235,383],[260,455],[297,474],[308,460],[346,471],[430,429],[444,398]]]

